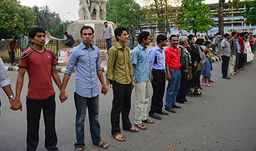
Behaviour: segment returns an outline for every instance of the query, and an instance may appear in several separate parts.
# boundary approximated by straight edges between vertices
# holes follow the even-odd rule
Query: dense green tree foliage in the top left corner
[[[14,0],[0,0],[0,36],[17,35],[35,27],[33,10]]]

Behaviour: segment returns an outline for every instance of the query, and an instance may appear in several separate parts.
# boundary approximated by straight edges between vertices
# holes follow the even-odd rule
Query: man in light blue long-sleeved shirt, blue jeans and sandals
[[[97,76],[102,85],[101,92],[106,94],[108,89],[102,76],[100,67],[99,48],[92,45],[94,30],[90,26],[83,26],[81,31],[81,44],[70,52],[68,64],[63,77],[60,99],[65,101],[65,88],[68,80],[76,67],[76,85],[74,99],[76,105],[76,150],[83,150],[84,147],[84,118],[88,106],[90,131],[94,145],[108,148],[108,143],[100,139],[99,124],[99,87]]]

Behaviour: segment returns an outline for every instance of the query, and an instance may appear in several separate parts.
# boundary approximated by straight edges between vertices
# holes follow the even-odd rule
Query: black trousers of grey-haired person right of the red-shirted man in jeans
[[[180,71],[181,79],[180,79],[180,90],[178,96],[176,97],[176,102],[184,103],[186,102],[186,87],[188,83],[188,73],[184,71]],[[154,76],[153,76],[154,77]]]

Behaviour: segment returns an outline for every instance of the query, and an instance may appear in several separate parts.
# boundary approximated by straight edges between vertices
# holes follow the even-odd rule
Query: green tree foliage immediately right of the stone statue
[[[106,11],[107,20],[125,28],[131,27],[132,23],[140,28],[140,22],[145,18],[145,11],[134,0],[109,0]]]

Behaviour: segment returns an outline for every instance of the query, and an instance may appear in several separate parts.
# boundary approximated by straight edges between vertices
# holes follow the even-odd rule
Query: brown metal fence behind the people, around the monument
[[[0,41],[0,57],[4,62],[10,62],[10,57],[8,54],[8,43],[9,41]],[[18,40],[16,42],[16,50],[17,53],[15,53],[15,62],[19,62],[19,57],[21,55],[21,50],[20,50],[20,43],[21,41]],[[76,47],[77,45],[80,45],[81,40],[76,40],[73,47]],[[94,40],[93,45],[99,47],[100,50],[107,50],[107,45],[106,41],[102,39],[97,39]],[[112,45],[116,45],[116,40],[112,40]],[[129,47],[130,46],[130,40],[127,41],[126,45]],[[135,41],[134,47],[138,45],[138,41]],[[29,48],[31,47],[31,42],[29,41]],[[58,41],[58,40],[51,40],[47,45],[45,45],[45,48],[49,48],[54,50],[55,54],[58,54],[58,50],[61,48],[65,48],[65,43],[64,41]]]

